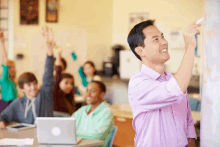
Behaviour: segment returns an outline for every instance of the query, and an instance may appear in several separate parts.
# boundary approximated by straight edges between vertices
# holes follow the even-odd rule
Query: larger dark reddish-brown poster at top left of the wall
[[[20,0],[20,24],[38,24],[38,1],[39,0]]]

